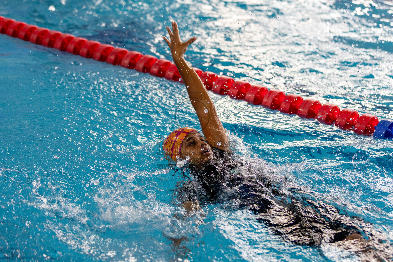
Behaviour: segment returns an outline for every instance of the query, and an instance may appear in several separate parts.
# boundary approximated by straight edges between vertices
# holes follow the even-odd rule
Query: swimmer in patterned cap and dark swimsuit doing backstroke
[[[247,169],[247,176],[232,172],[247,167],[233,159],[214,103],[202,80],[184,59],[185,51],[196,38],[183,42],[176,22],[172,22],[172,31],[166,28],[170,40],[163,39],[171,49],[173,62],[182,76],[204,134],[183,127],[171,132],[163,142],[167,158],[187,160],[189,172],[193,174],[190,180],[178,183],[176,192],[176,201],[187,213],[200,210],[200,203],[225,203],[228,208],[252,211],[275,234],[295,244],[334,244],[358,253],[373,253],[373,257],[381,261],[391,258],[380,250],[374,254],[378,248],[371,248],[371,240],[366,242],[362,237],[373,230],[370,224],[345,216],[336,207],[312,200],[312,197],[296,198],[295,194],[308,194],[302,189],[290,188],[285,194],[277,189],[272,178],[256,170]]]

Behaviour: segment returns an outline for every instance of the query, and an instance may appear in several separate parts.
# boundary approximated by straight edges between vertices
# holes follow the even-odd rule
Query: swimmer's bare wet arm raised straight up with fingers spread
[[[206,90],[202,80],[196,74],[195,70],[184,59],[184,53],[188,46],[196,40],[192,37],[186,42],[180,39],[179,29],[176,22],[172,22],[172,30],[167,26],[171,41],[164,38],[169,48],[171,48],[173,62],[176,64],[180,75],[187,88],[187,92],[193,105],[196,115],[198,116],[202,132],[212,147],[217,147],[229,151],[228,137],[225,134],[224,127],[217,115],[213,101]]]

